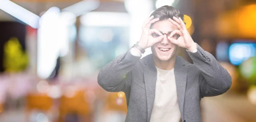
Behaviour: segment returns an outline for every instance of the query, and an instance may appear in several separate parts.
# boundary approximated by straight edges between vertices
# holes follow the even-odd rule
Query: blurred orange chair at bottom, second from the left
[[[72,96],[67,97],[63,95],[60,98],[59,122],[91,122],[92,112],[90,103],[87,102],[89,98],[84,94],[85,92],[86,90],[78,90]],[[69,120],[70,116],[74,119]],[[78,116],[78,120],[75,120],[77,119],[76,116]]]

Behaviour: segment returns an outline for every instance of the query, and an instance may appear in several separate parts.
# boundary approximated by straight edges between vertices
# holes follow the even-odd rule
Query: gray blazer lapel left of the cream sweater
[[[149,55],[150,59],[147,59],[144,67],[144,81],[145,81],[145,90],[147,98],[147,109],[148,109],[148,120],[149,122],[155,98],[155,89],[157,81],[157,69],[155,67],[152,55]]]

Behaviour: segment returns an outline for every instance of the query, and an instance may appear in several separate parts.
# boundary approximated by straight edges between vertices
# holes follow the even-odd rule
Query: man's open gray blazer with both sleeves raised
[[[187,50],[193,64],[176,56],[174,73],[182,122],[201,122],[201,98],[223,94],[231,86],[227,70],[198,44],[197,49],[196,53]],[[98,83],[106,91],[125,92],[125,122],[149,122],[151,117],[157,69],[152,54],[140,58],[129,50],[103,67],[98,75]]]

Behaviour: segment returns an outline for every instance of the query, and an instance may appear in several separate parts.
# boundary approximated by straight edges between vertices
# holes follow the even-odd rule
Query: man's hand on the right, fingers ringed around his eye
[[[172,22],[172,24],[176,25],[179,30],[172,31],[168,39],[173,44],[177,44],[179,47],[186,48],[189,51],[195,52],[197,50],[196,43],[193,41],[192,37],[189,34],[189,31],[186,29],[185,23],[182,21],[182,19],[179,17],[173,17],[172,20],[169,18],[169,21]],[[174,34],[179,34],[180,38],[173,39],[171,38]]]

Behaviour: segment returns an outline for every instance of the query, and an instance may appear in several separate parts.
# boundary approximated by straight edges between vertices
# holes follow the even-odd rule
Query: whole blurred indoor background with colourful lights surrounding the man
[[[0,122],[124,122],[125,94],[105,92],[99,69],[164,5],[232,77],[201,100],[203,122],[256,122],[256,0],[0,0]]]

